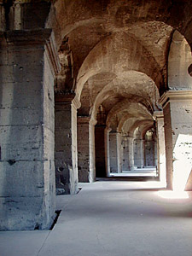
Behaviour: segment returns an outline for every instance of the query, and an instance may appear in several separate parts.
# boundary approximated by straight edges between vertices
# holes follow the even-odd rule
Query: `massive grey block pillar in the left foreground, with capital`
[[[49,229],[55,215],[51,30],[9,31],[0,42],[0,229]]]

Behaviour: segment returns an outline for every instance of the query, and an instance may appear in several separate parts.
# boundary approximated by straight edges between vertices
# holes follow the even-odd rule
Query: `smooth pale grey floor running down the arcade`
[[[192,193],[163,199],[157,182],[99,181],[58,195],[54,230],[0,232],[1,256],[191,256]]]

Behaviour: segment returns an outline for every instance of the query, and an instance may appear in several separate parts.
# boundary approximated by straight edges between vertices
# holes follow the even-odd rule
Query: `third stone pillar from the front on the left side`
[[[78,170],[82,183],[96,179],[95,124],[90,117],[78,117]]]

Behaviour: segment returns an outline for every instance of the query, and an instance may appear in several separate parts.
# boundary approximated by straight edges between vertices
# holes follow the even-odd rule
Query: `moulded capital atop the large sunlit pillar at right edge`
[[[168,102],[185,101],[192,99],[192,90],[167,90],[160,97],[159,103],[166,108]]]

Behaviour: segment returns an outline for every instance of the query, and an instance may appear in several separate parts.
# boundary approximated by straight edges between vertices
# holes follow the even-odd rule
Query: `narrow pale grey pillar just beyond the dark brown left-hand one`
[[[110,172],[118,172],[117,133],[109,133]]]

